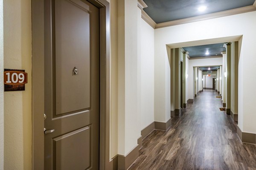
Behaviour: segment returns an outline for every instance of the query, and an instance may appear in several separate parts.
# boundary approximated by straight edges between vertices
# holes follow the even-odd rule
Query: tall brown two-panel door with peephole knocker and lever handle
[[[44,0],[45,170],[99,169],[99,9]]]

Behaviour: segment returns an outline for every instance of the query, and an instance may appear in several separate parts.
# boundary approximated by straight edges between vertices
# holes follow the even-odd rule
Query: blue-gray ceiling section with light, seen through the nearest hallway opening
[[[189,57],[208,57],[208,56],[219,56],[221,52],[226,51],[223,47],[224,43],[198,45],[192,47],[183,47],[185,51],[189,52]],[[209,54],[207,54],[207,52]]]

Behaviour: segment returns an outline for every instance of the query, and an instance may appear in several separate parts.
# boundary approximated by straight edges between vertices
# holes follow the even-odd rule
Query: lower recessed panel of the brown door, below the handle
[[[53,139],[53,143],[56,170],[85,170],[90,167],[89,126],[59,136]],[[78,144],[79,147],[73,144]]]

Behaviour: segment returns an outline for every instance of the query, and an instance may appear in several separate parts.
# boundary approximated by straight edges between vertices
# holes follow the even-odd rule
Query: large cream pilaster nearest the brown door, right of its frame
[[[137,147],[141,130],[137,119],[137,6],[137,0],[118,0],[118,154],[122,156]]]

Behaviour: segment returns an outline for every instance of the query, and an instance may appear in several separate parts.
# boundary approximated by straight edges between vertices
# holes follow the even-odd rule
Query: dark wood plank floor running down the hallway
[[[169,130],[148,135],[129,170],[256,170],[256,145],[240,141],[215,96],[205,90]]]

